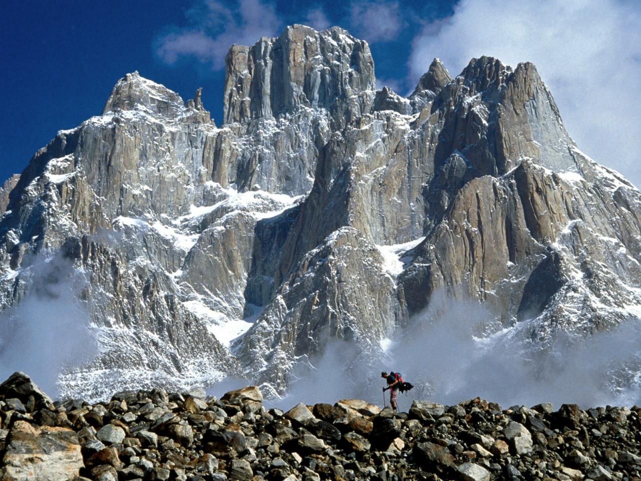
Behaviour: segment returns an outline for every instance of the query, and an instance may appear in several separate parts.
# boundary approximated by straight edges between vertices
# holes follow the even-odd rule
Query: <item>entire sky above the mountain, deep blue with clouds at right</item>
[[[127,72],[203,87],[217,123],[224,55],[287,24],[339,25],[370,43],[379,85],[412,90],[432,58],[537,64],[570,135],[641,185],[641,13],[636,0],[13,2],[0,15],[0,180],[55,135],[100,114]]]

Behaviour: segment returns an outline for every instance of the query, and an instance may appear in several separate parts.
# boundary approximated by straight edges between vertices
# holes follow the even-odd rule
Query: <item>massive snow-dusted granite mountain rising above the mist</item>
[[[222,128],[200,91],[128,74],[7,187],[4,318],[56,258],[100,346],[64,395],[228,373],[282,392],[440,290],[542,342],[641,303],[641,194],[576,148],[530,63],[435,60],[406,99],[374,90],[365,42],[293,26],[231,47],[227,73]]]

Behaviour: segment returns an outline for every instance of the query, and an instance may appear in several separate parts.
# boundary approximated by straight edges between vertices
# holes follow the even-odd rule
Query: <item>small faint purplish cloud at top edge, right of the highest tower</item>
[[[404,26],[398,2],[358,2],[351,5],[351,30],[367,42],[394,40]]]

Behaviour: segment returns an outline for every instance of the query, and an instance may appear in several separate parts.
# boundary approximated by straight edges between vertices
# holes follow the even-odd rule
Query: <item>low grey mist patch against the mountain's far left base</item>
[[[38,256],[22,269],[19,282],[29,285],[29,279],[24,299],[0,313],[0,378],[23,371],[56,398],[63,369],[96,355],[87,301],[81,300],[87,278],[56,255]]]

